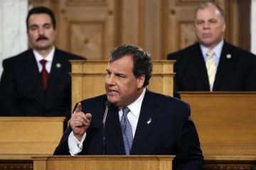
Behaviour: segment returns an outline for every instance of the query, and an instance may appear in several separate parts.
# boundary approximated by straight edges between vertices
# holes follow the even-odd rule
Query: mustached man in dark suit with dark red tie
[[[85,58],[55,47],[56,23],[49,8],[32,8],[26,25],[32,48],[3,61],[0,115],[70,117],[69,60]]]

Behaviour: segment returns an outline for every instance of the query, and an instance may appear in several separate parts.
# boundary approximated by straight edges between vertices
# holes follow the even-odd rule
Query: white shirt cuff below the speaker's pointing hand
[[[77,155],[82,151],[82,142],[84,142],[86,137],[86,132],[82,136],[81,142],[78,141],[78,139],[75,137],[73,132],[70,132],[70,135],[68,136],[68,148],[69,152],[72,156]]]

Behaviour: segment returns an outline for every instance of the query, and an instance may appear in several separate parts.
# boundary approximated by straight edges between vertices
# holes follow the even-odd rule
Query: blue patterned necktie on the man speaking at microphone
[[[122,128],[122,135],[124,139],[124,149],[126,154],[130,154],[131,148],[132,148],[132,141],[133,141],[133,136],[132,136],[132,125],[129,123],[129,120],[127,118],[127,113],[129,113],[129,108],[124,107],[122,109],[122,118],[120,121],[121,128]]]

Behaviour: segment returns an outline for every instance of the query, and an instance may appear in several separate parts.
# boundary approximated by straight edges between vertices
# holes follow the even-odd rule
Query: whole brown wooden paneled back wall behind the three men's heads
[[[134,44],[150,52],[154,60],[164,60],[169,52],[196,42],[193,13],[204,0],[31,1],[35,6],[53,9],[58,23],[55,42],[63,50],[92,60],[105,60],[114,47]],[[225,11],[225,40],[249,50],[250,44],[245,42],[250,41],[250,34],[240,33],[250,28],[250,20],[242,19],[250,3],[212,1]]]

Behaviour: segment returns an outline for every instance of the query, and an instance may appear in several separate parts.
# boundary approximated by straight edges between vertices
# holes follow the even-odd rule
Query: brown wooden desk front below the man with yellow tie
[[[179,92],[204,155],[256,155],[256,92]]]

